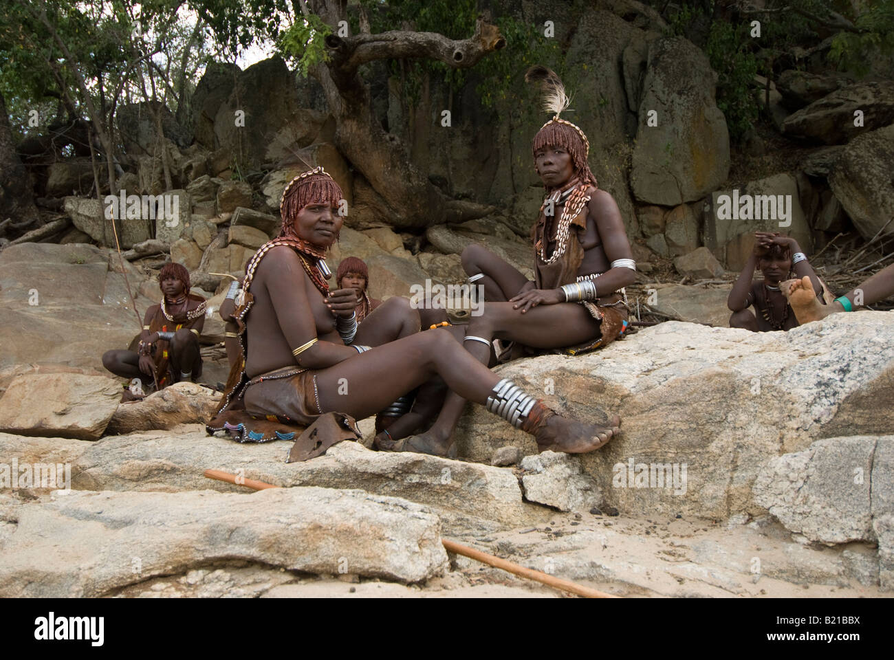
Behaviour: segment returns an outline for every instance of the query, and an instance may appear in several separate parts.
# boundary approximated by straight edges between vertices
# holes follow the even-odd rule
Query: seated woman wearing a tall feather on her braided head
[[[525,79],[540,84],[544,109],[553,114],[533,147],[546,193],[532,232],[536,276],[528,280],[481,245],[463,250],[468,283],[484,285],[486,300],[484,313],[469,321],[463,345],[484,363],[494,340],[509,343],[499,347],[500,360],[543,351],[576,355],[613,342],[627,329],[624,287],[636,276],[618,205],[596,187],[587,164],[589,140],[560,117],[569,106],[561,80],[543,66],[529,69]],[[464,404],[450,393],[434,426],[412,436],[417,451],[446,454]],[[607,443],[618,424],[610,419],[604,441],[585,451]]]

